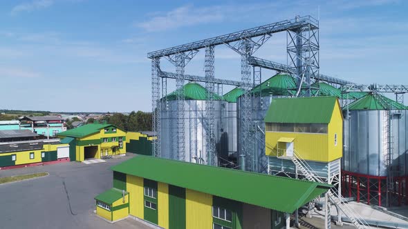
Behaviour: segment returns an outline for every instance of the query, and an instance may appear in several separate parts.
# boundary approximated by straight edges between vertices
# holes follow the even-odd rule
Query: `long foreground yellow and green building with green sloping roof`
[[[97,214],[109,221],[130,215],[169,229],[282,228],[290,213],[331,188],[144,155],[111,170],[113,188],[95,197]]]

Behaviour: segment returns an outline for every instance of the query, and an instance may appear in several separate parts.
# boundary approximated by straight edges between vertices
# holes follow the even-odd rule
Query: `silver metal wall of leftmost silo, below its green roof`
[[[214,101],[215,109],[215,138],[219,143],[221,137],[221,104],[225,101]],[[194,163],[207,163],[207,155],[205,152],[205,101],[202,100],[186,100],[184,114],[185,128],[185,156],[180,158],[180,154],[175,152],[174,137],[177,134],[177,101],[167,101],[160,112],[160,130],[161,130],[161,157],[180,161],[188,161]]]

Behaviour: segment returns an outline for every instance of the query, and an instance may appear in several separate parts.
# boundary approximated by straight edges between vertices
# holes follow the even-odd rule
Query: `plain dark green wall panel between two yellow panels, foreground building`
[[[185,229],[185,188],[169,185],[169,229]]]

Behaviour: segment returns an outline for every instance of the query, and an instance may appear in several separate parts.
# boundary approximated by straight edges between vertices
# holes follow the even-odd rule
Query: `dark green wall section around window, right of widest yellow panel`
[[[242,203],[232,199],[225,199],[222,197],[212,197],[212,205],[228,209],[232,212],[232,222],[223,221],[221,219],[213,218],[214,223],[221,226],[227,226],[232,229],[242,229]]]

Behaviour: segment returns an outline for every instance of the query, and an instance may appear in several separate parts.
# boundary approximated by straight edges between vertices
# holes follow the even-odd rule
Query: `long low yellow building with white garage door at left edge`
[[[30,130],[1,130],[0,170],[69,161],[68,144],[59,139],[31,139],[35,137]]]

